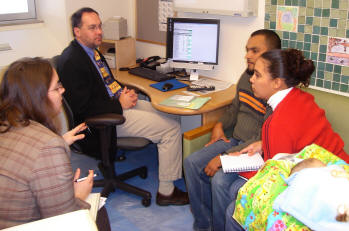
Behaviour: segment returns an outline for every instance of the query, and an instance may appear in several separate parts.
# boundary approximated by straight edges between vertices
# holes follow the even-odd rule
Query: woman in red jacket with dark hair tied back
[[[325,111],[311,94],[297,88],[309,85],[314,69],[313,62],[295,49],[272,50],[261,55],[250,82],[255,96],[265,99],[273,114],[263,124],[262,142],[241,152],[263,152],[268,160],[277,153],[297,153],[315,143],[349,162],[344,142],[333,131]]]

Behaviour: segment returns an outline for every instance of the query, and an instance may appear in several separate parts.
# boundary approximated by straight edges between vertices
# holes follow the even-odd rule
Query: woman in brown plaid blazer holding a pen
[[[0,85],[0,229],[79,209],[91,192],[93,171],[74,183],[69,145],[84,135],[80,124],[63,138],[53,124],[64,88],[49,61],[12,63]]]

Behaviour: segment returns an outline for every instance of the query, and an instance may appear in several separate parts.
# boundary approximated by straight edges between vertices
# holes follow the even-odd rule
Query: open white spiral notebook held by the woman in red
[[[241,154],[239,156],[221,156],[221,163],[223,172],[249,172],[260,169],[264,160],[260,154],[254,154],[249,156],[247,154]]]

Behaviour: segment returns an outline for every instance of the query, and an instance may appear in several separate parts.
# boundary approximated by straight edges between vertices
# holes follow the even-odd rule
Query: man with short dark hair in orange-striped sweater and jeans
[[[270,30],[253,32],[246,45],[247,69],[237,84],[236,95],[222,118],[215,124],[211,140],[205,147],[184,160],[189,201],[194,216],[194,230],[222,231],[225,210],[232,195],[246,181],[237,173],[223,173],[220,155],[240,151],[261,139],[266,117],[266,103],[257,99],[249,82],[257,58],[265,51],[280,49],[279,36]],[[225,129],[233,132],[230,138]]]

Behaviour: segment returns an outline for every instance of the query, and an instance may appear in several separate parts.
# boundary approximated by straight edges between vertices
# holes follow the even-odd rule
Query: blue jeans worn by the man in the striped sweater
[[[225,210],[233,199],[229,194],[229,188],[236,179],[241,178],[236,173],[225,174],[222,170],[211,178],[206,175],[204,169],[212,158],[239,143],[236,139],[230,139],[229,143],[219,140],[192,153],[184,160],[194,230],[224,230]]]

